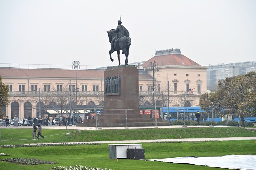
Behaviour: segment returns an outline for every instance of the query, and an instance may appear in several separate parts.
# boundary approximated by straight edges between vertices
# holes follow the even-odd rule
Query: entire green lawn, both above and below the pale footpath
[[[180,138],[211,138],[211,137],[245,137],[256,136],[255,131],[237,127],[222,128],[170,128],[170,129],[123,129],[123,130],[94,130],[71,131],[43,129],[44,140],[31,140],[30,129],[1,129],[0,145],[53,143],[53,142],[93,142],[113,140],[144,140],[144,139],[177,139]],[[223,156],[256,154],[255,140],[239,141],[210,141],[183,143],[141,143],[145,149],[145,159],[159,159],[179,156]],[[156,161],[141,161],[130,159],[109,159],[108,144],[87,146],[44,146],[24,148],[0,148],[0,153],[10,156],[3,158],[37,158],[55,161],[55,165],[20,165],[0,162],[1,170],[19,169],[51,169],[57,166],[83,165],[114,170],[217,170],[206,166],[174,164]]]

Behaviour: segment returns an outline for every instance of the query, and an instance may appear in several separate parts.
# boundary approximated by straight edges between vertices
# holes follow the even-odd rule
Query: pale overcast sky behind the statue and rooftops
[[[106,31],[119,15],[129,63],[172,47],[203,66],[256,60],[256,0],[0,0],[0,63],[118,65]]]

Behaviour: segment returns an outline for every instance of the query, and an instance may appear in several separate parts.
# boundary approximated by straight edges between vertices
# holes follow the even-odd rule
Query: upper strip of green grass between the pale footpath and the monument
[[[1,129],[0,145],[55,142],[93,142],[114,140],[147,140],[181,138],[215,138],[256,136],[256,131],[238,127],[120,129],[120,130],[66,130],[43,129],[44,140],[31,140],[32,129]]]

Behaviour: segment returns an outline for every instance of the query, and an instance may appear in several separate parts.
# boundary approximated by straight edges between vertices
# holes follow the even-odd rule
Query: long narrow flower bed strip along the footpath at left
[[[2,145],[2,148],[21,148],[36,146],[78,146],[78,145],[100,145],[100,143],[58,143],[58,144],[30,144],[30,145]]]

